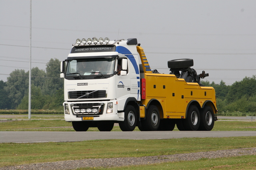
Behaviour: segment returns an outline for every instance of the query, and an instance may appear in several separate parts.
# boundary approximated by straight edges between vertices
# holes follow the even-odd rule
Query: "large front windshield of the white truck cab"
[[[114,74],[115,58],[110,59],[74,59],[68,62],[66,77],[110,77]],[[88,77],[89,76],[89,77]]]

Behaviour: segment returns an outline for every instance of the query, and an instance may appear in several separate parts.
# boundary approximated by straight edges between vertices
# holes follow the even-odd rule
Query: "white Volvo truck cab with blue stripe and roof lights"
[[[140,101],[137,39],[82,43],[84,40],[78,39],[61,63],[65,121],[76,126],[87,120],[88,124],[96,122],[94,127],[107,121],[112,126],[124,121],[128,102],[138,105],[136,101]]]

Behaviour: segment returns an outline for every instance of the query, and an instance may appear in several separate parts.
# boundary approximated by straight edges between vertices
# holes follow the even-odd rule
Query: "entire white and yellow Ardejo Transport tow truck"
[[[160,62],[160,61],[159,61]],[[215,90],[202,86],[193,59],[152,70],[136,38],[77,39],[60,64],[64,118],[75,131],[210,131],[217,120]]]

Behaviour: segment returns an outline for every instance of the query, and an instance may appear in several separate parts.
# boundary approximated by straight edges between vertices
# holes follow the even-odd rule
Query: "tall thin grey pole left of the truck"
[[[29,79],[28,79],[28,119],[31,118],[31,16],[32,0],[30,0],[30,45],[29,45]]]

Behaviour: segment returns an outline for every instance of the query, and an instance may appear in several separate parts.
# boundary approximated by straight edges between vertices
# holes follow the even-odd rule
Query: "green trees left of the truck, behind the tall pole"
[[[29,71],[15,69],[7,81],[0,81],[0,109],[28,109]],[[64,80],[60,78],[60,61],[50,59],[46,71],[31,69],[31,109],[63,109]]]

